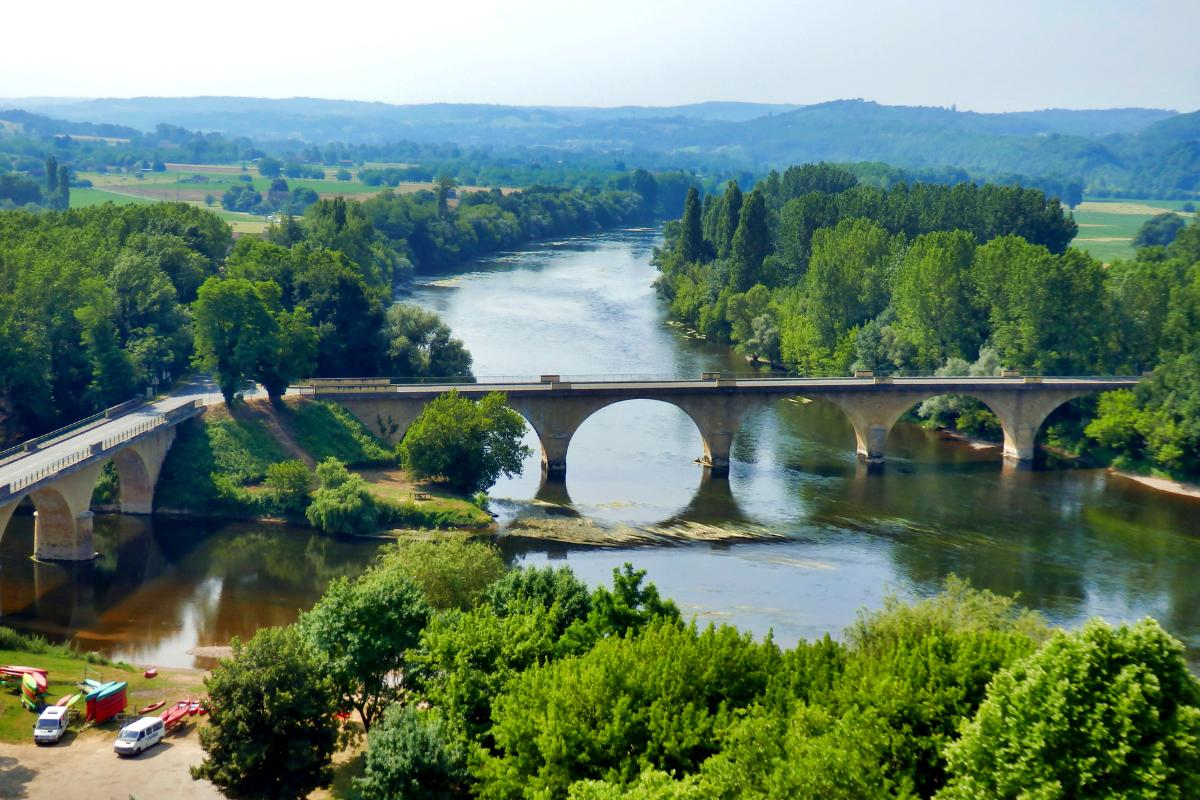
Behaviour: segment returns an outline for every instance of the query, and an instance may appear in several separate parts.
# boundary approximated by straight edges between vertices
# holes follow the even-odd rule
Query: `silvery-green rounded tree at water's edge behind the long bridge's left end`
[[[397,302],[384,327],[389,374],[412,378],[470,374],[470,353],[434,311]]]

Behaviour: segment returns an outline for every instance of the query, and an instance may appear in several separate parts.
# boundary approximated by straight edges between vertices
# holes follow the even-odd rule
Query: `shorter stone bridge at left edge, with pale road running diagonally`
[[[82,561],[95,555],[91,494],[108,461],[121,480],[121,512],[150,513],[175,426],[203,410],[193,397],[126,404],[83,426],[48,434],[0,461],[0,536],[29,498],[35,507],[34,558]]]

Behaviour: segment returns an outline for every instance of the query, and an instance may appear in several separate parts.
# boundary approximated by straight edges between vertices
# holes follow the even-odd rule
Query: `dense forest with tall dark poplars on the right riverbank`
[[[806,164],[749,193],[733,181],[720,196],[690,191],[655,253],[656,287],[706,338],[802,373],[1153,371],[1135,391],[1064,407],[1044,435],[1120,465],[1200,475],[1200,227],[1108,269],[1069,248],[1074,235],[1037,190],[881,190]],[[1000,431],[974,402],[922,414]]]

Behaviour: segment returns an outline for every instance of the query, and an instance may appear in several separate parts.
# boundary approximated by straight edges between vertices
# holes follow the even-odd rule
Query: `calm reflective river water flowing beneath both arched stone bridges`
[[[656,233],[550,242],[439,276],[409,300],[463,338],[476,375],[670,374],[745,369],[690,337],[654,296]],[[527,444],[538,452],[532,434]],[[1099,615],[1158,619],[1200,664],[1200,501],[1103,470],[1006,465],[976,447],[899,425],[888,463],[868,470],[834,407],[782,399],[750,416],[728,480],[694,463],[688,416],[629,401],[571,440],[564,485],[542,486],[540,456],[492,488],[502,523],[536,503],[611,530],[662,534],[654,547],[587,547],[503,535],[515,563],[570,564],[608,582],[625,561],[701,621],[728,621],[790,644],[838,633],[888,588],[936,591],[950,573],[1020,594],[1062,625]],[[65,569],[29,560],[32,527],[0,541],[0,624],[115,657],[211,666],[186,654],[286,624],[329,581],[356,575],[371,542],[281,525],[102,516],[100,558]],[[689,541],[688,537],[700,539]]]

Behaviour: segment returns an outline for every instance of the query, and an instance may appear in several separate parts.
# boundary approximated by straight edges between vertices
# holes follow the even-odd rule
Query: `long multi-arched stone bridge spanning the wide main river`
[[[314,399],[343,405],[371,431],[398,441],[425,404],[457,389],[479,398],[508,393],[509,404],[533,427],[541,441],[542,473],[566,474],[566,450],[583,421],[602,408],[628,399],[670,403],[691,417],[704,444],[701,462],[715,475],[728,471],[730,446],[750,411],[784,397],[821,398],[840,408],[854,426],[858,455],[881,463],[888,432],[913,405],[938,395],[965,395],[986,405],[1004,431],[1004,456],[1033,458],[1038,428],[1067,401],[1092,392],[1126,389],[1139,378],[722,378],[704,373],[700,380],[562,380],[542,375],[533,381],[475,384],[391,384],[380,379],[322,379],[300,387]]]

